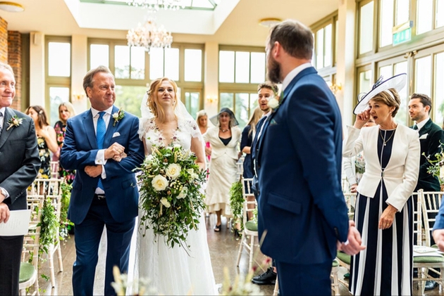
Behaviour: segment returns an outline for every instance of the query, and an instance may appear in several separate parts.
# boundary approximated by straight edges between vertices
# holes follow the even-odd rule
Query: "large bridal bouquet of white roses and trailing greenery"
[[[188,231],[197,229],[205,207],[201,187],[206,172],[195,163],[195,154],[179,145],[152,150],[137,176],[141,225],[164,236],[169,247],[183,246]]]

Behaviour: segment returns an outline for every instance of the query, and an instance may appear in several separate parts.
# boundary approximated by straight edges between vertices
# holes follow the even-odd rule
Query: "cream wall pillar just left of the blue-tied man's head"
[[[85,35],[71,37],[71,102],[77,114],[87,110],[88,98],[83,90],[83,77],[87,73],[88,38]]]

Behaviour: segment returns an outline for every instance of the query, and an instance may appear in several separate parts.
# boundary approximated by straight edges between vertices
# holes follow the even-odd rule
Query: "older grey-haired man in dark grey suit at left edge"
[[[16,95],[11,66],[0,63],[0,223],[25,210],[26,188],[41,162],[31,117],[9,108]],[[0,236],[0,295],[18,295],[23,236]]]

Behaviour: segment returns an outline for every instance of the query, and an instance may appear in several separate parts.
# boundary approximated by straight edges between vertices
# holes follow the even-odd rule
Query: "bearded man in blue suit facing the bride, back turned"
[[[286,20],[266,43],[269,80],[283,96],[257,152],[261,251],[276,260],[280,295],[331,295],[337,247],[364,250],[347,217],[340,175],[342,122],[335,96],[310,64],[308,27]]]

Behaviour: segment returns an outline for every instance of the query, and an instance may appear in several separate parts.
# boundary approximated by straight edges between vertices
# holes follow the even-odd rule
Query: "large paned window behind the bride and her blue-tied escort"
[[[140,115],[140,101],[153,79],[168,77],[191,114],[203,108],[203,44],[173,44],[170,49],[128,46],[125,40],[89,39],[90,69],[106,65],[116,78],[116,105]]]

